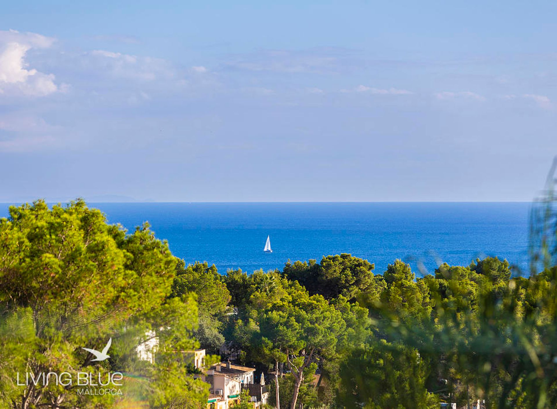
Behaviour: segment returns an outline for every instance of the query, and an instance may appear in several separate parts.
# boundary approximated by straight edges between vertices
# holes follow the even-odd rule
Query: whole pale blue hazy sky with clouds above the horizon
[[[527,201],[557,154],[555,16],[4,2],[0,202]]]

